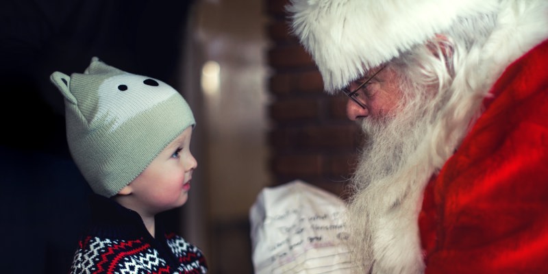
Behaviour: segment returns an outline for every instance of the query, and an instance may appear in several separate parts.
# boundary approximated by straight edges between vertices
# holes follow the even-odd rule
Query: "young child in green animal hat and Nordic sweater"
[[[71,155],[95,192],[71,273],[206,273],[201,251],[156,218],[186,202],[197,167],[183,97],[95,57],[83,74],[55,72],[51,82],[65,99]]]

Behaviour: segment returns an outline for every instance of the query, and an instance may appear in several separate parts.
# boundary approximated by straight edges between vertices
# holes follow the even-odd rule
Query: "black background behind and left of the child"
[[[49,75],[82,73],[97,56],[175,86],[192,3],[0,2],[1,273],[68,273],[88,221],[91,190],[71,160]]]

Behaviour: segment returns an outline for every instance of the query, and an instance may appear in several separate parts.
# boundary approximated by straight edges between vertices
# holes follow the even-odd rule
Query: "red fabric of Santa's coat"
[[[426,273],[548,273],[548,40],[503,73],[419,215]]]

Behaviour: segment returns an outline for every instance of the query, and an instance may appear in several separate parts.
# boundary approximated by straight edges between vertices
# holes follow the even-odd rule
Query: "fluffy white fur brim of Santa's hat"
[[[292,32],[329,93],[499,0],[290,0]]]

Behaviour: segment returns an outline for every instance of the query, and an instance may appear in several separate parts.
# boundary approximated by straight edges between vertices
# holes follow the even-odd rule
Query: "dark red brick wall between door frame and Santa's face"
[[[273,72],[268,90],[274,184],[302,179],[345,197],[346,179],[363,139],[360,129],[346,117],[346,99],[323,92],[312,58],[288,32],[288,0],[265,1],[271,45],[266,54]]]

